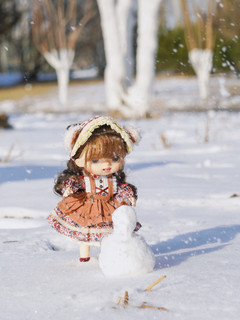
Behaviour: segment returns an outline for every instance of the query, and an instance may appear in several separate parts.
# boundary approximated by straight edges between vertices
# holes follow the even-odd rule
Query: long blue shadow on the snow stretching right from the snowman
[[[240,225],[221,226],[176,236],[151,248],[156,256],[156,269],[170,268],[192,256],[221,250],[240,233]],[[204,247],[206,246],[206,247]]]

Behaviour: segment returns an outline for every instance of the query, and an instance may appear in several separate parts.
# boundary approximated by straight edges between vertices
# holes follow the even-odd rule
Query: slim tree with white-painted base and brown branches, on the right
[[[213,58],[213,0],[208,0],[207,10],[197,8],[196,4],[191,2],[193,16],[196,21],[193,23],[190,18],[189,9],[186,0],[181,0],[185,35],[188,45],[189,60],[198,78],[199,94],[202,99],[209,96],[209,80],[212,69]]]

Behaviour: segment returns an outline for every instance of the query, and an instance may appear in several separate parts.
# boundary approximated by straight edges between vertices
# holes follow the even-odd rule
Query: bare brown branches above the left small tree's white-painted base
[[[33,0],[31,3],[32,34],[37,49],[44,52],[73,49],[83,27],[96,14],[86,1],[86,14],[77,24],[77,2],[70,0],[65,7],[64,0]]]

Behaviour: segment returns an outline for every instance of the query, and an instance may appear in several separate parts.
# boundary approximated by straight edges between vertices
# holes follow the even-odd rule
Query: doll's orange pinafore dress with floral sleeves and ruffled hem
[[[99,177],[96,177],[96,179],[98,178]],[[94,181],[94,179],[92,179],[92,181]],[[131,199],[136,199],[136,196],[134,195],[132,188],[127,183],[117,183],[117,192],[114,194],[112,193],[113,187],[111,186],[110,192],[112,193],[112,196],[110,196],[109,194],[106,194],[106,196],[97,195],[96,192],[96,200],[92,198],[91,193],[78,192],[79,190],[85,190],[84,176],[81,176],[80,178],[72,177],[63,182],[63,195],[65,197],[64,199],[66,200],[63,199],[58,204],[58,206],[51,212],[51,214],[48,217],[48,222],[59,233],[64,234],[77,241],[83,242],[98,242],[101,241],[104,236],[111,233],[113,229],[111,214],[113,213],[115,208],[121,206],[122,204],[131,205]],[[71,206],[73,209],[71,209]],[[83,207],[83,210],[81,207]],[[106,218],[104,219],[102,213],[98,212],[97,209],[101,207],[105,208],[104,211],[106,211]],[[69,209],[69,212],[72,213],[66,214],[67,209]],[[82,218],[87,218],[87,216],[89,216],[90,214],[90,211],[88,210],[92,209],[95,210],[94,212],[98,212],[98,215],[92,221],[98,221],[98,223],[91,224],[90,220],[88,224],[83,223],[84,219]],[[78,215],[78,210],[80,210],[80,215]],[[81,213],[84,213],[84,215],[81,216]],[[77,221],[82,221],[82,224],[77,223]]]

